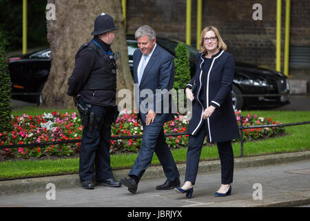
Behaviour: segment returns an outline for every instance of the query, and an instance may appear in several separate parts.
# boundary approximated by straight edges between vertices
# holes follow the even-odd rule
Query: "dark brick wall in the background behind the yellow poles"
[[[262,20],[254,20],[255,3]],[[144,24],[158,37],[186,39],[186,0],[127,0],[127,33]],[[281,70],[285,50],[285,0],[282,0]],[[192,0],[192,46],[196,47],[197,1]],[[202,27],[216,26],[236,61],[276,69],[276,0],[203,0]],[[291,0],[290,75],[310,74],[310,1]]]

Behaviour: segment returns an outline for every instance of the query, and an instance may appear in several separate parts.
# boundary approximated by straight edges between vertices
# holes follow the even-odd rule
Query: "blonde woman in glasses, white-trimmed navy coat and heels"
[[[234,153],[231,140],[240,136],[236,115],[231,102],[231,84],[234,79],[235,61],[226,52],[227,46],[214,26],[200,35],[200,52],[196,61],[196,74],[185,87],[187,99],[192,100],[192,119],[187,127],[189,146],[185,184],[176,188],[178,193],[192,197],[198,172],[203,140],[216,142],[221,164],[221,186],[215,196],[231,194],[234,173]]]

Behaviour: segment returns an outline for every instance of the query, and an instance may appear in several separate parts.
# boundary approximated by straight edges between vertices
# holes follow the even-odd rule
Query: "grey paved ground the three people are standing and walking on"
[[[180,179],[183,183],[184,176],[181,175]],[[163,182],[164,177],[143,179],[136,194],[127,191],[125,186],[96,186],[94,190],[80,187],[58,189],[55,186],[54,200],[51,187],[47,191],[0,194],[0,206],[182,208],[308,205],[310,160],[235,169],[232,193],[225,198],[214,197],[214,192],[220,185],[220,171],[198,173],[192,199],[187,199],[185,195],[174,190],[156,191],[155,186]]]

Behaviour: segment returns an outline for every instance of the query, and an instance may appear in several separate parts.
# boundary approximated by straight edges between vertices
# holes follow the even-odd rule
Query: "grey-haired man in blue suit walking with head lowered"
[[[174,189],[180,186],[180,175],[163,132],[165,122],[174,119],[171,96],[169,102],[164,99],[174,84],[174,59],[156,44],[153,28],[141,26],[136,30],[135,37],[139,49],[134,51],[134,84],[138,86],[137,109],[143,124],[143,140],[136,162],[128,174],[130,178],[121,178],[121,183],[128,187],[128,191],[136,193],[138,182],[151,164],[155,152],[167,177],[166,182],[156,186],[156,189]]]

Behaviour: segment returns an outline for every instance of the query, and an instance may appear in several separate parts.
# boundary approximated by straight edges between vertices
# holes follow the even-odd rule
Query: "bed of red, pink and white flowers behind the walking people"
[[[236,119],[240,124],[241,112],[236,112]],[[65,113],[60,115],[55,111],[53,113],[44,113],[41,116],[23,115],[22,117],[12,117],[13,131],[0,132],[0,145],[12,144],[31,144],[40,142],[56,142],[62,140],[81,139],[83,126],[81,119],[76,113]],[[164,125],[164,133],[184,133],[187,131],[187,116],[179,115],[173,121]],[[273,122],[269,117],[258,117],[250,115],[244,117],[242,124],[244,126],[262,125],[262,124],[280,124]],[[278,133],[284,133],[284,128],[253,128],[245,129],[245,140],[256,140],[263,137],[270,137]],[[137,121],[137,115],[122,111],[112,125],[112,137],[143,135],[143,128]],[[166,138],[170,148],[187,147],[188,135],[169,136]],[[207,142],[207,141],[205,141]],[[111,140],[111,153],[138,151],[141,146],[141,139]],[[43,147],[32,148],[5,148],[0,153],[6,159],[17,157],[43,157],[43,156],[70,156],[79,153],[81,143],[74,144],[56,144]]]

